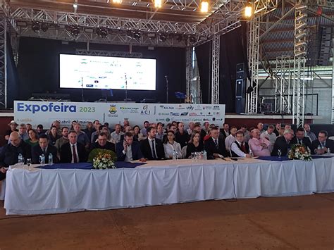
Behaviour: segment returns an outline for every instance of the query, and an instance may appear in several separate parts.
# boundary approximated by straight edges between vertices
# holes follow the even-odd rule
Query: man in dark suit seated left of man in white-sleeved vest
[[[204,142],[204,150],[208,158],[218,158],[219,155],[228,156],[225,149],[225,142],[223,137],[219,137],[219,128],[211,128],[211,137]]]

